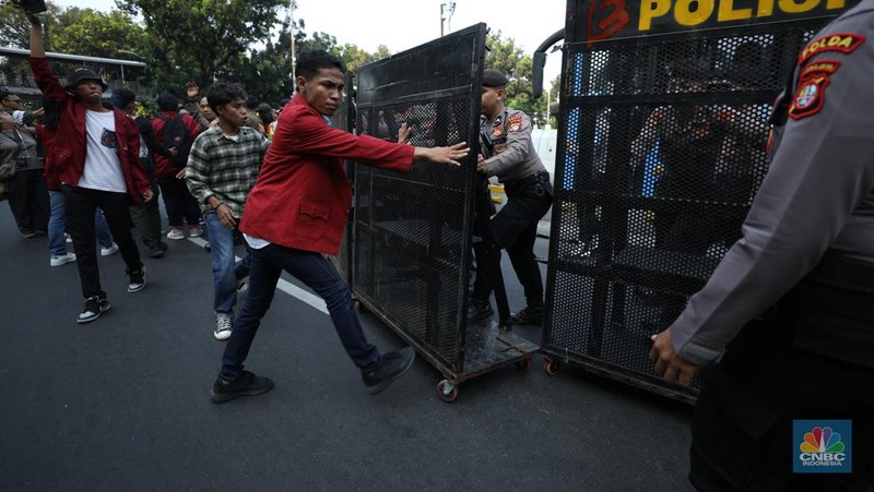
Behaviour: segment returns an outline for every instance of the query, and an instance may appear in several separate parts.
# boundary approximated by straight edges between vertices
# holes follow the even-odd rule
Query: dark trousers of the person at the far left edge
[[[22,233],[48,229],[51,206],[43,169],[17,171],[9,181],[9,208]]]

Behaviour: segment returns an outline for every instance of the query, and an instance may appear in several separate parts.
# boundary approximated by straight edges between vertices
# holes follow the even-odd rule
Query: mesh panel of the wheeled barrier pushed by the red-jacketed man
[[[410,143],[476,142],[485,26],[446,36],[358,72],[357,128]],[[473,145],[471,145],[473,148]],[[463,365],[475,160],[416,160],[409,175],[358,166],[355,290],[368,307],[451,371]]]

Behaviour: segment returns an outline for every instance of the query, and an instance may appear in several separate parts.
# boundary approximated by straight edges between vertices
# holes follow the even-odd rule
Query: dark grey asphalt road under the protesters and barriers
[[[79,325],[75,265],[49,267],[46,238],[22,239],[5,204],[0,231],[0,490],[690,489],[684,404],[572,367],[548,376],[540,358],[465,382],[452,404],[420,358],[370,396],[328,315],[286,293],[247,361],[276,387],[213,405],[223,343],[202,248],[168,241],[137,293],[121,257],[102,257],[113,309]],[[362,321],[383,351],[401,346]]]

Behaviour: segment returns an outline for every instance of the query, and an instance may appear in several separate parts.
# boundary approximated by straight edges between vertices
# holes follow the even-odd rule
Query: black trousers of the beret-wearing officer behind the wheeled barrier
[[[507,204],[492,218],[494,247],[507,250],[512,269],[524,289],[528,305],[540,308],[543,307],[543,279],[534,255],[534,241],[538,239],[538,221],[552,205],[552,187],[548,181],[530,181],[507,184],[505,189]],[[476,251],[477,257],[483,253],[482,249]],[[496,256],[499,264],[499,252]],[[496,281],[488,268],[477,268],[473,299],[488,299]]]

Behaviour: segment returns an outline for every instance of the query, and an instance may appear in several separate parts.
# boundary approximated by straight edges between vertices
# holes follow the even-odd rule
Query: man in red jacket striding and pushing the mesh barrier
[[[342,159],[409,172],[414,158],[458,166],[457,159],[470,149],[465,143],[413,147],[329,127],[323,117],[340,106],[344,71],[343,63],[326,51],[304,51],[297,59],[297,94],[280,116],[279,130],[239,226],[252,248],[249,290],[210,392],[215,403],[260,395],[273,387],[269,379],[244,371],[243,362],[282,271],[324,299],[343,347],[361,369],[370,393],[385,389],[413,364],[411,347],[383,357],[367,341],[346,281],[323,256],[338,254],[352,204]],[[405,125],[399,136],[406,140]]]

